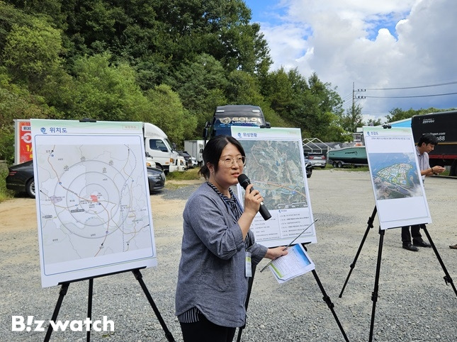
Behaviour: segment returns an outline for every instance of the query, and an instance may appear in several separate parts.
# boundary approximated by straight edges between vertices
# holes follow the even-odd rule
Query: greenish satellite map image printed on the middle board
[[[244,172],[256,179],[256,189],[271,210],[308,207],[300,142],[242,141],[246,153]]]

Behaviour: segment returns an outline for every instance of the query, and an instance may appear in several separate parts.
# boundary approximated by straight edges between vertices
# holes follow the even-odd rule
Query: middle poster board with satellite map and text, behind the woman
[[[271,214],[267,221],[260,214],[254,218],[256,241],[267,247],[287,246],[306,229],[295,242],[316,242],[300,129],[232,126],[232,136],[246,153],[244,173]],[[244,203],[239,185],[237,193]]]

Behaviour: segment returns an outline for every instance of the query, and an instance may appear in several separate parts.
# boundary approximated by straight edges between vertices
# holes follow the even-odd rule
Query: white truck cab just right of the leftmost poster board
[[[165,132],[156,125],[143,122],[143,135],[145,137],[145,152],[147,159],[152,157],[158,169],[165,173],[174,171],[184,171],[185,167],[178,152],[171,143]]]

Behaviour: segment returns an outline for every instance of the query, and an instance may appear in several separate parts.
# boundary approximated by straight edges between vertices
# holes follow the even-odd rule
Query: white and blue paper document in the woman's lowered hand
[[[301,244],[288,248],[289,253],[274,260],[269,266],[278,283],[305,274],[315,269],[315,265]]]

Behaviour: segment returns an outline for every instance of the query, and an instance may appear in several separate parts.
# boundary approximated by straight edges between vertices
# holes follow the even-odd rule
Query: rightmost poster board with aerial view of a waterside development
[[[363,127],[381,229],[430,223],[411,128]]]

